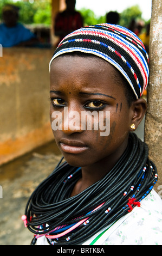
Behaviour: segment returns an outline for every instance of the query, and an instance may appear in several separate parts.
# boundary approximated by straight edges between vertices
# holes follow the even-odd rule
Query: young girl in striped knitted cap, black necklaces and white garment
[[[144,45],[124,27],[89,26],[61,41],[50,61],[50,119],[65,161],[29,199],[31,244],[161,245],[157,169],[133,133],[147,82]]]

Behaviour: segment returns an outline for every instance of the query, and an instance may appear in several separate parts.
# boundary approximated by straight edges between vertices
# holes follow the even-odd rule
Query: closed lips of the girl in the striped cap
[[[88,149],[84,143],[80,141],[69,141],[68,139],[61,139],[60,147],[63,152],[71,154],[80,154]]]

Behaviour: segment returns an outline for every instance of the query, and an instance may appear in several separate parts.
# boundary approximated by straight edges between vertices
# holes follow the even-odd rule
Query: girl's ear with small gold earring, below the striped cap
[[[144,118],[144,115],[147,111],[147,102],[144,99],[135,100],[135,101],[133,101],[130,108],[131,108],[130,131],[134,131],[137,129],[141,120]],[[132,124],[135,125],[135,129],[131,128]]]

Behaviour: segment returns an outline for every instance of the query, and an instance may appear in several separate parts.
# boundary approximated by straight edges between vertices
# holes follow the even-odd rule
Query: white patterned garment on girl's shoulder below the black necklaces
[[[37,245],[49,244],[42,236],[37,239]],[[100,230],[82,245],[162,245],[161,198],[152,190],[140,207],[135,206],[110,228]]]

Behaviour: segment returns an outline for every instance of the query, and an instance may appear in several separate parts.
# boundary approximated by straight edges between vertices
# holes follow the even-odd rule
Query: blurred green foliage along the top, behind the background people
[[[1,0],[0,1],[0,20],[2,19],[2,8],[5,4],[11,3],[20,7],[19,21],[24,24],[42,23],[51,25],[51,0],[35,0],[33,3],[29,1]],[[94,25],[106,22],[105,16],[97,17],[94,11],[86,8],[79,10],[82,14],[84,25]],[[122,11],[120,14],[120,25],[128,27],[132,19],[141,19],[142,12],[138,5],[134,5]]]

